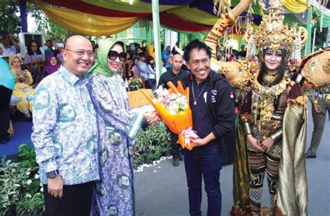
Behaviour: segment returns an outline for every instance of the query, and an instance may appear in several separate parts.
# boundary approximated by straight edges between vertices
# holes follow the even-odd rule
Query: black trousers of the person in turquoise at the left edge
[[[0,86],[0,137],[8,136],[10,122],[9,103],[13,90]]]

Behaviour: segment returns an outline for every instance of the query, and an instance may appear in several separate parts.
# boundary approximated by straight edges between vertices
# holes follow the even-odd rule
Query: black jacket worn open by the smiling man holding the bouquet
[[[191,85],[194,76],[185,77],[184,86]],[[213,134],[223,141],[226,134],[235,132],[235,104],[233,89],[227,79],[214,71],[210,73],[210,90],[207,92],[207,108],[213,125]],[[222,138],[222,139],[221,139]]]

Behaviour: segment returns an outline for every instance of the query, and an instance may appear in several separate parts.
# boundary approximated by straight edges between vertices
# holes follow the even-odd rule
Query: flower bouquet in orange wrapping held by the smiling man
[[[172,82],[167,85],[170,89],[166,90],[160,86],[152,98],[144,89],[142,93],[155,107],[164,123],[175,134],[179,135],[178,144],[182,148],[191,150],[193,147],[191,140],[198,139],[196,132],[192,130],[192,114],[189,107],[189,88],[184,90],[181,82],[178,82],[178,88],[175,88]]]

